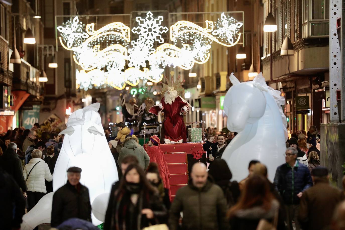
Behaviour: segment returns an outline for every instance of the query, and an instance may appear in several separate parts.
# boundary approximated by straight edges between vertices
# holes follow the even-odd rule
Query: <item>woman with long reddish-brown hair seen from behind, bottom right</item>
[[[248,178],[238,203],[228,211],[231,229],[256,230],[262,219],[276,227],[278,210],[279,202],[270,191],[267,179],[254,174]]]

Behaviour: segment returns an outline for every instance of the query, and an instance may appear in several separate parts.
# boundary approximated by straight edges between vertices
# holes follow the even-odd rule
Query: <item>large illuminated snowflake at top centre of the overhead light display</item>
[[[165,26],[161,26],[163,17],[159,16],[158,18],[153,18],[151,12],[147,12],[146,18],[137,17],[137,22],[139,23],[138,27],[132,29],[133,33],[139,34],[139,38],[143,38],[149,43],[158,41],[163,43],[164,39],[161,34],[166,33],[169,29]]]

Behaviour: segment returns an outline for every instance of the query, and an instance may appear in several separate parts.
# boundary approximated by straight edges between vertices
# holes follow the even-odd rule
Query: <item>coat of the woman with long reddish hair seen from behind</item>
[[[230,218],[230,227],[231,229],[256,230],[261,219],[273,223],[274,218],[278,218],[278,209],[279,202],[276,200],[272,200],[271,208],[268,211],[261,206],[240,209]]]

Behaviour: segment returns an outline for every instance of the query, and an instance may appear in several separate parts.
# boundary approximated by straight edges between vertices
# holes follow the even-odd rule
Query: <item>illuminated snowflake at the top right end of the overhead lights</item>
[[[219,35],[222,40],[227,40],[230,44],[233,44],[236,40],[236,36],[239,32],[239,28],[243,26],[242,22],[238,22],[232,17],[225,16],[224,13],[221,14],[220,19],[216,23],[218,29],[212,31],[213,35]],[[235,37],[235,40],[234,40]]]

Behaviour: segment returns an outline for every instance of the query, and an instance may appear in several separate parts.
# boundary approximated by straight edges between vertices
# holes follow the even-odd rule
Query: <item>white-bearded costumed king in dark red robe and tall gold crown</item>
[[[168,84],[162,83],[162,92],[165,92],[164,97],[157,106],[152,106],[150,113],[158,116],[158,112],[164,112],[164,121],[161,129],[161,138],[164,138],[165,143],[183,143],[187,141],[186,127],[183,120],[183,113],[188,112],[191,108],[190,104],[180,96],[184,89],[182,83],[179,81],[168,81]],[[167,78],[165,78],[167,79]]]

